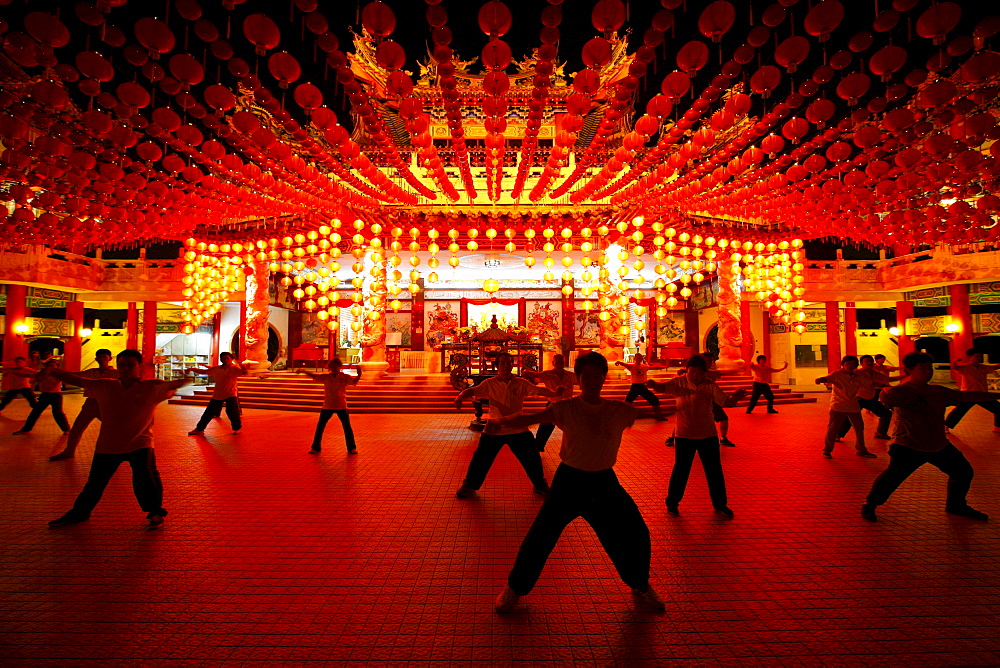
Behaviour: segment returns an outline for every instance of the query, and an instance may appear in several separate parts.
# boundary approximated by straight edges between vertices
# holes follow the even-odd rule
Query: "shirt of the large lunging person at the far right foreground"
[[[893,443],[921,452],[937,452],[949,443],[944,431],[944,409],[960,403],[962,398],[950,387],[900,383],[882,390],[879,400],[893,409]]]

